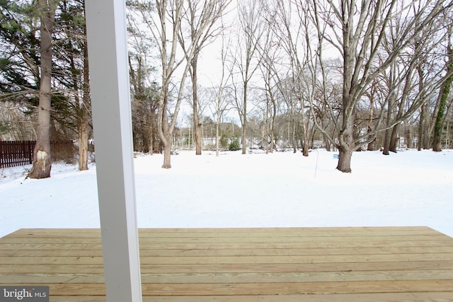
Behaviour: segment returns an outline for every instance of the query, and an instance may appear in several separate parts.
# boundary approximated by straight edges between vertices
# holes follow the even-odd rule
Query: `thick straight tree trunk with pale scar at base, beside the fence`
[[[55,23],[55,1],[38,2],[41,21],[41,79],[38,105],[38,129],[33,167],[29,178],[49,178],[52,168],[50,154],[50,106],[52,90],[52,31]]]

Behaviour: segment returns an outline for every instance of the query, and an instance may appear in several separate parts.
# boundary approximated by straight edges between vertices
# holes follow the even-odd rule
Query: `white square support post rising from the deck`
[[[108,302],[141,302],[124,0],[86,0],[91,107]]]

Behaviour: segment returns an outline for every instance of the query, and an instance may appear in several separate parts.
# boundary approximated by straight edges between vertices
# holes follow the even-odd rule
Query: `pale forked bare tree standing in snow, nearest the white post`
[[[191,2],[199,3],[199,2]],[[224,4],[225,2],[219,2]],[[219,4],[216,1],[205,1],[204,6],[200,9],[209,11],[205,18],[197,19],[194,21],[195,30],[190,33],[190,39],[184,44],[183,54],[177,56],[178,45],[180,45],[181,33],[184,32],[183,21],[189,18],[190,11],[188,6],[185,6],[183,0],[156,0],[156,14],[152,14],[148,2],[142,1],[142,16],[144,22],[147,24],[151,31],[154,40],[156,40],[159,49],[159,57],[161,59],[161,91],[159,95],[159,113],[157,117],[157,128],[159,136],[161,137],[161,144],[164,147],[164,164],[162,168],[171,168],[171,143],[173,137],[173,130],[175,129],[180,104],[183,100],[183,91],[187,75],[192,67],[193,59],[200,52],[200,42],[207,40],[209,31],[212,28],[212,18],[219,18],[222,10],[217,10]],[[223,7],[223,6],[222,6]],[[192,6],[194,8],[194,6]],[[224,8],[224,7],[223,7]],[[222,9],[223,9],[222,8]],[[150,16],[151,14],[151,16]],[[193,16],[197,16],[194,13]],[[154,18],[153,18],[154,17]],[[202,44],[201,44],[202,45]],[[183,64],[184,63],[184,64]],[[182,71],[178,74],[178,67],[182,67]],[[173,76],[178,74],[180,79],[178,88],[175,93],[176,103],[171,107],[171,83]]]

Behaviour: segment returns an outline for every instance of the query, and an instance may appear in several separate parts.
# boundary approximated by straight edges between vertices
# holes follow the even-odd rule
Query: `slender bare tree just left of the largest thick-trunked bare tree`
[[[319,91],[323,91],[323,97],[326,98],[326,74],[323,66],[322,40],[318,35],[323,35],[326,25],[316,28],[313,25],[312,18],[317,18],[316,11],[311,12],[312,7],[308,1],[294,1],[287,5],[285,1],[270,1],[268,7],[274,6],[275,25],[272,28],[277,31],[281,37],[280,46],[287,54],[289,74],[287,75],[292,81],[292,95],[287,95],[287,90],[282,91],[287,95],[287,103],[292,104],[294,98],[299,103],[299,124],[302,128],[302,152],[304,156],[309,156],[309,116],[314,117],[314,112],[318,109],[318,117],[325,115],[326,106],[316,108],[315,100],[319,98]],[[295,21],[294,21],[295,20]],[[316,44],[316,42],[318,44]],[[321,75],[321,80],[319,76]],[[282,82],[283,83],[283,82]],[[320,89],[319,86],[323,85]],[[289,102],[288,102],[289,100]],[[328,102],[324,102],[328,104]],[[294,108],[294,106],[289,106]],[[291,110],[291,115],[294,110]],[[294,119],[293,119],[294,120]],[[314,133],[314,126],[311,133]],[[296,125],[293,126],[293,132]],[[312,135],[313,140],[314,135]],[[327,145],[327,144],[326,144]]]

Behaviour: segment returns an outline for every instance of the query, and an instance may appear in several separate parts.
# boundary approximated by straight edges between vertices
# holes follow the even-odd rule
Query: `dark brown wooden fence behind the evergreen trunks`
[[[73,145],[72,141],[51,141],[50,149],[62,144]],[[0,141],[0,168],[31,165],[36,141]]]

